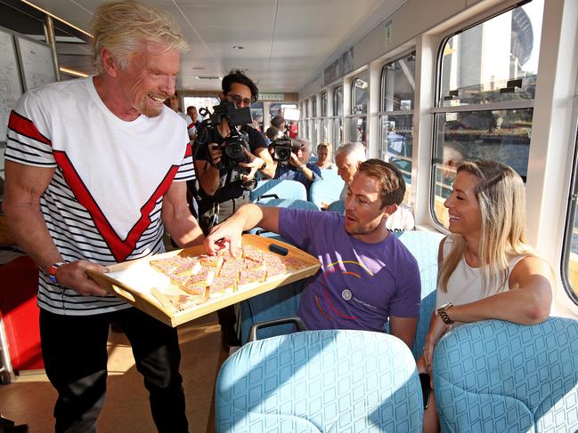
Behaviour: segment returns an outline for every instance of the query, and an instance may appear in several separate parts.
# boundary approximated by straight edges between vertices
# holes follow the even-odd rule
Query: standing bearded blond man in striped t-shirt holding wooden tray
[[[193,177],[175,93],[187,45],[174,20],[135,2],[94,15],[96,76],[27,92],[10,117],[4,212],[40,269],[45,370],[58,391],[55,429],[96,431],[110,323],[122,325],[159,431],[188,430],[175,329],[111,296],[86,269],[202,242],[185,198]]]

